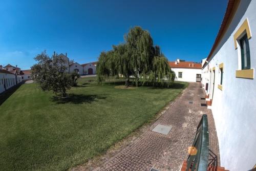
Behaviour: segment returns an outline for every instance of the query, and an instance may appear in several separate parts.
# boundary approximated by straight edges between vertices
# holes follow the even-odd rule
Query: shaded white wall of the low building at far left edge
[[[16,79],[14,74],[0,73],[0,93],[5,91],[4,82],[6,82],[6,89],[10,89],[16,85]]]

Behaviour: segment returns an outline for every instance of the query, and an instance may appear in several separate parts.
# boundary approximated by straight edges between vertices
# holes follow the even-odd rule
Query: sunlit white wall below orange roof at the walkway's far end
[[[201,69],[172,68],[176,74],[177,81],[196,82],[197,74],[202,74]],[[179,78],[179,72],[182,72],[182,78]]]

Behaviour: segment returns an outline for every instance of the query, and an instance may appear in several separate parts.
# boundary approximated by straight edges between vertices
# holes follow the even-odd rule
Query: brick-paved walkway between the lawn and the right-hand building
[[[200,83],[190,83],[183,94],[135,142],[95,170],[179,170],[193,143],[197,125],[203,114],[208,115],[211,156],[219,164],[219,146],[211,111],[204,105]],[[189,103],[190,102],[190,103]],[[191,102],[193,102],[191,104]],[[168,135],[152,132],[157,125],[171,125]],[[216,155],[216,156],[215,156]]]

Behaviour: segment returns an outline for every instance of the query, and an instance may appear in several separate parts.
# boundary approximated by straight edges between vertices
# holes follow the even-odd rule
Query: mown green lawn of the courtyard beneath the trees
[[[187,86],[123,90],[115,83],[82,78],[62,100],[23,84],[0,105],[0,170],[67,170],[84,163],[153,119]]]

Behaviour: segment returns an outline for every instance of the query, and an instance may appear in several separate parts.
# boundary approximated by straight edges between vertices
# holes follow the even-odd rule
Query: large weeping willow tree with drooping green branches
[[[125,77],[125,86],[130,84],[130,77],[135,84],[154,84],[169,86],[174,81],[175,73],[170,70],[167,58],[159,46],[154,46],[150,33],[141,27],[130,29],[124,35],[124,43],[113,46],[113,50],[102,52],[97,64],[97,79],[104,77]]]

